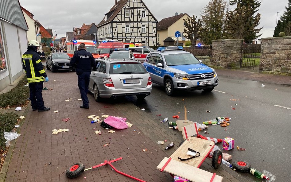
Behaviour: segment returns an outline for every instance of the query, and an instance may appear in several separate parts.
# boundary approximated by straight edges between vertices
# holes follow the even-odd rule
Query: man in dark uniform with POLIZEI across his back
[[[87,97],[89,89],[89,81],[92,67],[96,67],[96,61],[90,52],[86,51],[84,43],[79,45],[79,50],[74,53],[71,60],[71,66],[76,69],[78,75],[78,86],[81,93],[83,105],[81,108],[89,108],[89,100]]]

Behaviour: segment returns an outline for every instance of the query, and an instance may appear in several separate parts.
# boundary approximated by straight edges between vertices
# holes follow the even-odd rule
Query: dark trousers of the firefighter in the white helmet
[[[32,109],[43,110],[45,108],[45,103],[42,99],[42,88],[44,83],[29,83],[29,98],[31,102]]]

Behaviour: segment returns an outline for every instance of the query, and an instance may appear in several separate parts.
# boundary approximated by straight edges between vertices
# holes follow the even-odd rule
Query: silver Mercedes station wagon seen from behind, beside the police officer
[[[138,60],[99,58],[90,75],[89,91],[97,102],[102,98],[116,99],[129,95],[144,99],[152,92],[152,81]]]

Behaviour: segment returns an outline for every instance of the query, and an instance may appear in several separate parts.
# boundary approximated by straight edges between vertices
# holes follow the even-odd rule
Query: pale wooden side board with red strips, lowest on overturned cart
[[[157,169],[161,170],[161,168],[163,168],[168,160],[169,158],[165,157],[157,166]],[[166,165],[163,171],[169,172],[177,176],[181,176],[182,178],[185,178],[192,182],[210,182],[211,180],[211,182],[221,182],[223,179],[221,176],[184,164],[182,162],[175,161],[173,159]]]

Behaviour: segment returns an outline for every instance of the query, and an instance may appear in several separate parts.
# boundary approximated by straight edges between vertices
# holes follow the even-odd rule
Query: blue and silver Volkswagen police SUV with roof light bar
[[[181,46],[159,47],[148,54],[143,65],[152,82],[165,87],[167,95],[175,90],[210,92],[218,85],[215,70]]]

